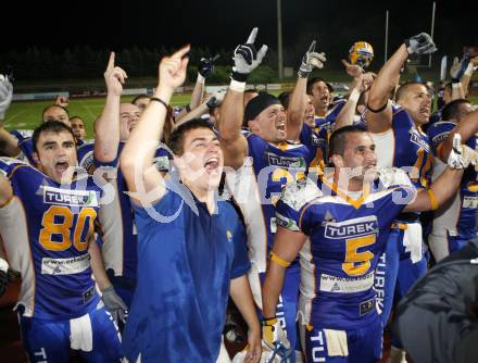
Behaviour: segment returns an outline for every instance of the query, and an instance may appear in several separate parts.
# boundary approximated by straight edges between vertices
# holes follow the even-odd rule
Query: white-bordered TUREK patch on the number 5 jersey
[[[325,226],[325,237],[342,239],[361,237],[378,233],[378,222],[375,215],[353,218],[344,222],[330,222]]]

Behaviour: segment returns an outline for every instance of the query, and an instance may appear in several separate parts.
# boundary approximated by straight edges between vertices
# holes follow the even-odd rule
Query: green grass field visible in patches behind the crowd
[[[276,93],[276,92],[275,92]],[[133,96],[123,97],[122,102],[130,102]],[[172,100],[173,105],[187,104],[190,95],[175,95]],[[474,104],[478,104],[478,97],[470,97]],[[18,101],[12,102],[7,112],[4,126],[7,129],[34,129],[41,121],[41,112],[53,101]],[[104,98],[72,99],[70,101],[70,114],[78,115],[86,122],[88,138],[93,136],[93,121],[98,117],[104,105]]]

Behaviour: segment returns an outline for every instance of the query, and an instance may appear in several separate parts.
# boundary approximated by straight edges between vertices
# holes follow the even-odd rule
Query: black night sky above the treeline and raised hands
[[[242,42],[253,26],[260,28],[257,43],[277,48],[276,0],[8,1],[0,10],[2,23],[10,24],[10,29],[2,26],[4,50],[171,48],[190,42],[214,51]],[[430,32],[431,7],[428,0],[282,0],[284,47],[302,53],[315,38],[320,51],[340,57],[354,41],[367,40],[382,57],[385,11],[390,10],[392,50],[405,37]],[[474,22],[476,13],[468,5],[437,1],[435,41],[440,52],[460,54],[464,45],[478,46]]]

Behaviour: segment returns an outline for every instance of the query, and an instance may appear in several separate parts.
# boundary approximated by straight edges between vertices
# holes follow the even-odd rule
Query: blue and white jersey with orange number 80
[[[26,316],[68,320],[95,309],[99,297],[88,245],[101,189],[90,177],[60,186],[13,159],[2,159],[0,168],[13,188],[1,224],[8,228],[2,234],[12,235],[5,246],[14,268],[22,273],[18,303]]]

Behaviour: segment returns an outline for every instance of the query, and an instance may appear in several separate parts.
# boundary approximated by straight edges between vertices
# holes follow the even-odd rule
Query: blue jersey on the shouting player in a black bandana
[[[303,129],[307,127],[304,125]],[[276,233],[275,204],[282,188],[303,178],[310,167],[323,161],[323,155],[319,148],[303,143],[282,141],[273,145],[254,134],[249,134],[247,140],[261,196],[262,218],[267,228],[267,247],[271,249]]]

